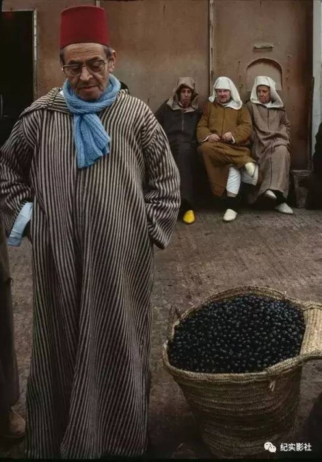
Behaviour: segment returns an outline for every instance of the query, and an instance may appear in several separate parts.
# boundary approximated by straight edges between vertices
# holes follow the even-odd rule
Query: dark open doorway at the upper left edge
[[[3,11],[1,17],[0,146],[19,114],[33,101],[33,12]]]

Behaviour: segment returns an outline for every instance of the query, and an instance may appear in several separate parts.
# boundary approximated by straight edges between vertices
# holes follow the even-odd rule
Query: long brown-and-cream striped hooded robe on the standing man
[[[111,152],[79,170],[59,89],[20,117],[1,153],[9,234],[33,201],[34,332],[27,456],[139,455],[147,446],[153,246],[179,209],[164,131],[125,91],[99,114]]]

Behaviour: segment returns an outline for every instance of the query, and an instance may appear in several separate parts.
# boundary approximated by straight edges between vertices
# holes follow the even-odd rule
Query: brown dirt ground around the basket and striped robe
[[[151,458],[211,457],[200,442],[180,388],[162,363],[162,344],[172,303],[185,311],[214,291],[246,284],[270,286],[290,296],[322,302],[322,211],[295,209],[293,216],[287,216],[275,211],[245,209],[232,223],[222,222],[221,217],[222,213],[212,208],[199,210],[193,225],[178,221],[166,250],[155,250],[149,411],[154,455]],[[21,386],[16,408],[24,414],[32,336],[30,244],[25,241],[20,248],[10,248],[9,252]],[[321,372],[321,361],[311,361],[303,367],[296,432],[290,443],[297,442],[295,438],[300,437],[304,420],[322,391]],[[23,457],[23,449],[23,441],[15,444],[0,441],[2,457]]]

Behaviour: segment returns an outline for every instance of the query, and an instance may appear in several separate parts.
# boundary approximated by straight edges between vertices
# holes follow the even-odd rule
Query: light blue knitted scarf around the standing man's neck
[[[120,88],[120,82],[110,75],[103,95],[96,101],[84,101],[74,93],[68,80],[64,82],[63,95],[69,111],[74,115],[74,141],[79,169],[90,167],[109,154],[111,138],[97,113],[114,103]]]

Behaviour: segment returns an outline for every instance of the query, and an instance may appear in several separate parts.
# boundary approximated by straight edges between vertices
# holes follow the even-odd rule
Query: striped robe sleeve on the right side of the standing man
[[[180,177],[172,157],[165,132],[149,117],[154,124],[147,146],[143,143],[145,163],[144,201],[147,227],[151,241],[164,249],[171,238],[180,207]],[[150,130],[144,127],[144,132]],[[145,137],[146,135],[143,135]]]

